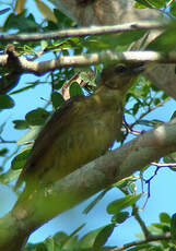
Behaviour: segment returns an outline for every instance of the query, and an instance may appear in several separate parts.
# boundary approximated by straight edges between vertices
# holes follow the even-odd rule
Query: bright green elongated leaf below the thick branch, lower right
[[[139,193],[137,195],[127,195],[122,199],[114,201],[107,206],[107,213],[108,214],[117,214],[121,210],[133,205],[140,198],[141,198],[141,193]]]

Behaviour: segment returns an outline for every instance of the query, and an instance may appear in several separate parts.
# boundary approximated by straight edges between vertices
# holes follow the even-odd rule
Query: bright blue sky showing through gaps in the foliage
[[[32,0],[28,0],[26,5],[28,9],[31,8],[30,4],[32,2]],[[3,5],[1,5],[1,9],[3,9]],[[36,20],[40,20],[40,15],[34,5],[33,14],[35,14]],[[0,16],[0,20],[2,23],[3,16]],[[25,82],[34,81],[38,77],[32,74],[24,75],[15,89],[24,86]],[[50,89],[47,85],[39,85],[34,89],[30,89],[26,94],[21,93],[13,95],[12,98],[14,98],[15,100],[15,107],[12,110],[9,109],[0,113],[0,121],[8,121],[3,134],[4,139],[17,140],[24,133],[24,131],[14,130],[11,121],[14,119],[24,119],[24,116],[27,111],[35,109],[36,107],[44,107],[45,101],[42,100],[40,97],[48,99]],[[174,110],[176,110],[176,104],[174,100],[169,100],[163,107],[160,107],[155,111],[151,112],[148,118],[168,121]],[[10,163],[7,167],[9,166]],[[154,170],[155,168],[151,167],[146,175],[150,176],[151,174],[153,174]],[[173,194],[175,194],[176,192],[176,187],[174,186],[176,172],[171,171],[168,168],[162,168],[159,171],[157,176],[152,180],[151,198],[144,211],[141,212],[141,216],[145,220],[146,225],[157,222],[159,214],[162,212],[166,212],[171,215],[176,212],[176,203],[175,200],[173,200],[172,198]],[[138,191],[140,192],[140,182],[137,183],[137,187]],[[67,211],[66,213],[45,224],[42,228],[39,228],[31,236],[30,241],[42,241],[46,237],[54,235],[58,230],[63,230],[67,234],[70,234],[82,223],[86,223],[86,226],[81,230],[81,236],[91,229],[95,229],[105,224],[108,224],[110,216],[106,214],[106,205],[110,201],[117,200],[120,196],[122,196],[121,192],[117,189],[114,189],[105,195],[105,198],[90,212],[89,215],[83,215],[82,211],[90,203],[90,201],[92,201],[92,199],[90,199],[89,201],[75,206],[72,210]],[[0,186],[0,215],[2,216],[12,207],[16,198],[9,188]],[[143,201],[141,201],[140,205],[143,205]],[[134,219],[130,218],[125,224],[116,228],[114,235],[108,240],[108,244],[116,246],[134,240],[134,234],[137,232],[140,232],[140,227]]]

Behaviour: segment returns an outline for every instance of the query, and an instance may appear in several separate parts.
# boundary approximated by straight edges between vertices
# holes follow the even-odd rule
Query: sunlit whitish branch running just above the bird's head
[[[0,65],[8,65],[8,56],[0,56]],[[110,50],[99,53],[80,55],[80,56],[60,56],[52,60],[43,62],[34,62],[24,58],[19,58],[21,72],[44,74],[64,67],[85,67],[98,63],[140,63],[140,62],[157,62],[157,63],[176,63],[176,52],[168,53],[155,51],[124,51],[114,52]],[[15,67],[15,65],[14,65]]]

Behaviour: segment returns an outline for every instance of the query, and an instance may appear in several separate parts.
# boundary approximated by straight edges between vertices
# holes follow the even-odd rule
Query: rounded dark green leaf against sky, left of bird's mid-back
[[[37,108],[26,113],[25,119],[31,125],[43,125],[49,116],[50,113],[45,109]]]

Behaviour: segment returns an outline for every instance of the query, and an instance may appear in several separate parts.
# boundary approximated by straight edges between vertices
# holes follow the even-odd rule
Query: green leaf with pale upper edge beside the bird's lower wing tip
[[[11,167],[13,170],[21,169],[24,167],[27,156],[31,152],[32,146],[23,148],[12,160]]]

